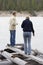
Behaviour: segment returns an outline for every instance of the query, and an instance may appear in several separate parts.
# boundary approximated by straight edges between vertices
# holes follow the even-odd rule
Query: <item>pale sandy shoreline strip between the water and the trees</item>
[[[14,11],[0,11],[0,16],[11,16],[12,15],[12,12]],[[21,11],[21,12],[17,12],[17,16],[30,16],[30,17],[33,17],[33,15],[27,11]],[[35,12],[36,16],[41,16],[43,17],[43,11],[38,11],[38,12]],[[35,17],[36,17],[35,16]]]

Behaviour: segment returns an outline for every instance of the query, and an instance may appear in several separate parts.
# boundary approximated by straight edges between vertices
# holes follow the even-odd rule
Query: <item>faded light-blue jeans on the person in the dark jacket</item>
[[[30,54],[31,53],[31,32],[23,32],[23,37],[24,37],[25,54]]]

